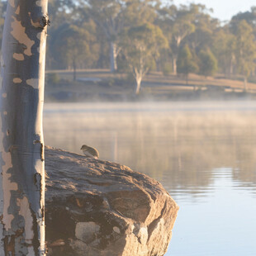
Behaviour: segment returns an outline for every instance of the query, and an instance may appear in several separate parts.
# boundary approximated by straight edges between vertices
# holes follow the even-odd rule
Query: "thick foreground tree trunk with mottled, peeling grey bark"
[[[0,255],[45,255],[47,0],[9,1],[2,40]]]

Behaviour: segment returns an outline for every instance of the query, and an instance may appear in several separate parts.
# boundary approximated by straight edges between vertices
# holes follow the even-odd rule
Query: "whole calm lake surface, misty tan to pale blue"
[[[256,102],[45,104],[45,144],[126,164],[180,206],[167,256],[256,255]]]

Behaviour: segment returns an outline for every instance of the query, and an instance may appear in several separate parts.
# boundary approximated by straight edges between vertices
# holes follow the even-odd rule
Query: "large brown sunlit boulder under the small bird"
[[[160,256],[178,206],[164,187],[130,168],[45,147],[49,256]]]

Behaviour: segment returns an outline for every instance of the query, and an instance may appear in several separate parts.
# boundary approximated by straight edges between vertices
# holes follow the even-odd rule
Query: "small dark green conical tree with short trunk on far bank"
[[[186,77],[186,83],[188,83],[188,74],[196,73],[198,71],[198,65],[193,58],[192,53],[187,45],[180,50],[177,60],[177,72],[183,73]]]

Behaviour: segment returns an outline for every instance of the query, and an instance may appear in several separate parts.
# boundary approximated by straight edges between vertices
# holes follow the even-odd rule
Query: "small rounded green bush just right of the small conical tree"
[[[216,57],[211,53],[211,50],[201,50],[199,55],[199,73],[205,77],[212,76],[218,69]]]

